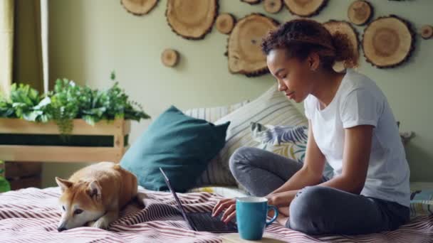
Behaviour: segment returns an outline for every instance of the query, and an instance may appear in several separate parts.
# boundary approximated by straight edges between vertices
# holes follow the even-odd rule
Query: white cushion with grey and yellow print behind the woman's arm
[[[308,141],[307,126],[273,126],[251,123],[251,134],[260,144],[256,148],[303,163]],[[323,175],[333,177],[333,168],[325,163]]]

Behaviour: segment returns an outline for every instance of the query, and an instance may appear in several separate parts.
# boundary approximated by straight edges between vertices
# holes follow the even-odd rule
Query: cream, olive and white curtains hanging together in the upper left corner
[[[13,82],[48,92],[48,0],[0,0],[0,92]]]

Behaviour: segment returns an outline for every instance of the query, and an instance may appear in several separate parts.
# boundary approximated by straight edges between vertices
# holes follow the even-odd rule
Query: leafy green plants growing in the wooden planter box
[[[39,95],[29,85],[14,84],[9,97],[0,96],[0,118],[23,119],[38,123],[54,121],[59,135],[0,134],[3,145],[43,146],[113,146],[112,136],[70,135],[73,120],[83,119],[87,124],[112,123],[115,119],[150,119],[140,104],[133,102],[119,87],[115,73],[113,85],[107,90],[92,90],[76,85],[68,79],[58,79],[52,91]],[[128,136],[124,144],[127,146]]]

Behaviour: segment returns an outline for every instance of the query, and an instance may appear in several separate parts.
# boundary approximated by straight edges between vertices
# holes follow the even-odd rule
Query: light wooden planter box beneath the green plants
[[[124,119],[100,121],[95,126],[74,119],[71,136],[62,137],[53,121],[36,123],[0,118],[0,160],[119,162],[127,149],[125,141],[129,133],[130,121]],[[97,142],[93,144],[93,140]]]

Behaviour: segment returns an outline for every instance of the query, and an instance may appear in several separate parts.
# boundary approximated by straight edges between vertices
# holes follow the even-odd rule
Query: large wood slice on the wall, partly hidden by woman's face
[[[266,34],[275,30],[279,23],[260,13],[252,13],[239,20],[229,36],[227,55],[229,71],[247,77],[268,72],[266,56],[261,51],[261,41]]]

